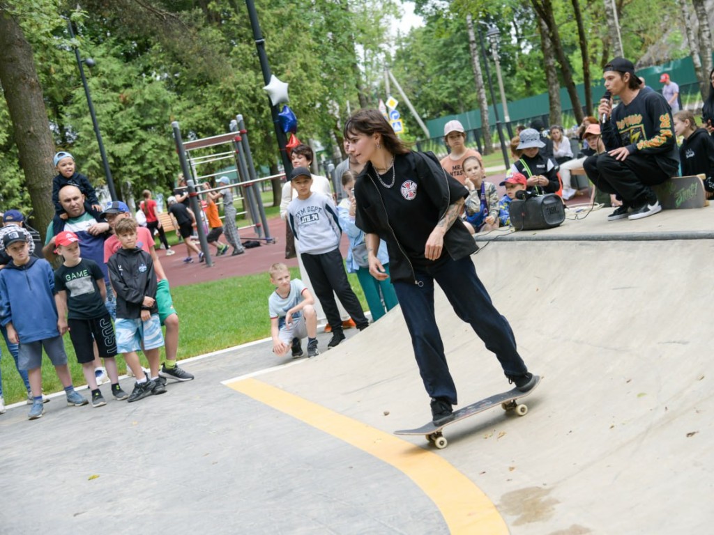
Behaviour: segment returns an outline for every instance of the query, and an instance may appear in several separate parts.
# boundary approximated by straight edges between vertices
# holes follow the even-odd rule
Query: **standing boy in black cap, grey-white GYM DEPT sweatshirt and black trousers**
[[[288,205],[288,223],[300,242],[303,265],[327,321],[332,325],[332,340],[328,347],[336,347],[345,335],[333,291],[359,330],[367,327],[369,322],[347,280],[339,248],[342,229],[334,201],[328,195],[310,190],[312,175],[308,168],[296,167],[290,180],[298,196]]]

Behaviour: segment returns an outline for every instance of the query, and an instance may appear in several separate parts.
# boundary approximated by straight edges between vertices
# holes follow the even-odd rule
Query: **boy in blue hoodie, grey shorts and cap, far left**
[[[13,344],[19,344],[19,367],[27,370],[33,402],[29,419],[44,414],[42,400],[42,348],[59,377],[69,406],[86,405],[72,386],[64,342],[59,334],[59,317],[54,301],[54,273],[47,260],[30,256],[30,234],[18,228],[3,237],[12,261],[0,271],[0,323]]]

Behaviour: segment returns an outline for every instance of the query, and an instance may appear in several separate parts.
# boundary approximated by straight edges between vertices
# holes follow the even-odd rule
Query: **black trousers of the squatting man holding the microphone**
[[[583,168],[598,190],[616,193],[628,206],[652,198],[655,193],[650,186],[670,178],[654,156],[638,153],[630,154],[625,161],[618,161],[608,153],[595,154],[585,160]]]

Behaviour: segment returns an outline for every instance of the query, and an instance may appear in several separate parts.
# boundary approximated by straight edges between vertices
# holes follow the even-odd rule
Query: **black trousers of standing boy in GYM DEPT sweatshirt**
[[[369,325],[362,305],[359,304],[359,300],[347,280],[347,272],[340,250],[331,250],[329,253],[321,255],[301,253],[300,256],[333,332],[342,330],[342,318],[335,302],[335,294],[357,327],[362,328]]]

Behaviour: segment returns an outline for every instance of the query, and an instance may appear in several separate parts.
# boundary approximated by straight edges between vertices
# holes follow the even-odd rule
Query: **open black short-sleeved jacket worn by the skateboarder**
[[[443,218],[449,207],[449,185],[446,171],[438,163],[433,153],[416,153],[410,151],[403,155],[394,157],[395,161],[405,158],[414,171],[418,180],[436,180],[440,190],[440,198],[435,199],[439,208],[439,220]],[[357,177],[355,185],[355,197],[357,200],[357,211],[355,224],[366,234],[376,234],[381,240],[386,241],[389,253],[389,272],[391,280],[403,280],[416,282],[414,268],[411,260],[406,255],[403,247],[396,237],[393,227],[389,224],[386,207],[379,193],[379,186],[372,178],[376,171],[372,170],[372,164],[367,163],[362,173]],[[468,194],[468,192],[467,192]],[[420,214],[414,214],[415,218]],[[436,227],[438,220],[433,222]],[[396,221],[393,225],[398,225],[401,232],[409,232],[409,221]],[[460,220],[456,220],[451,228],[444,235],[444,250],[453,260],[460,260],[476,252],[478,246],[466,230]]]

